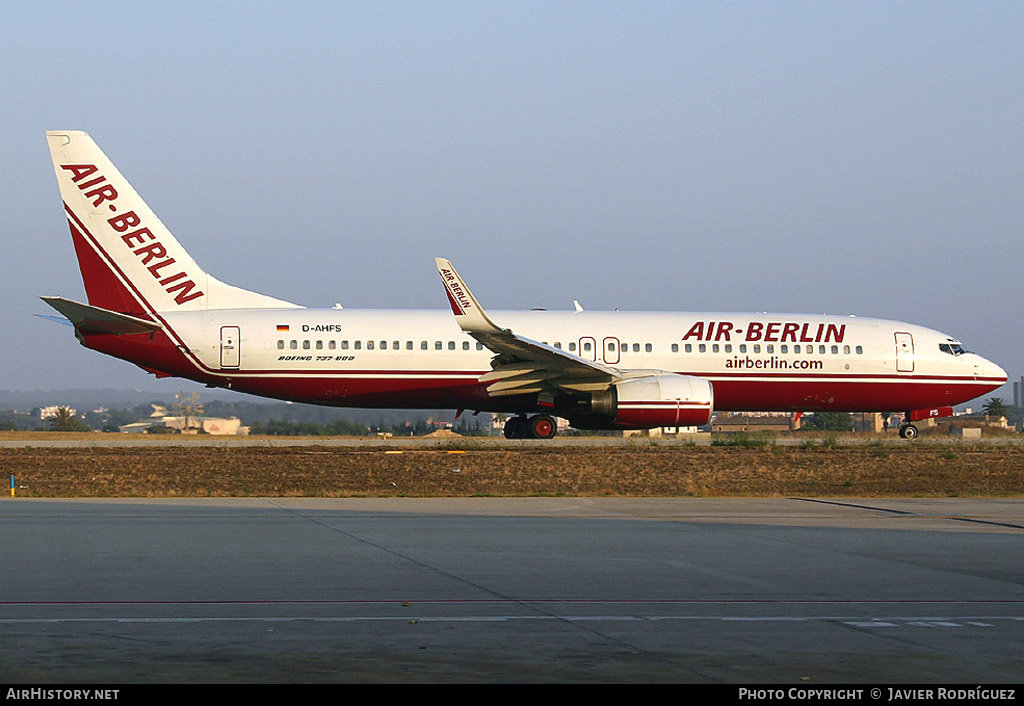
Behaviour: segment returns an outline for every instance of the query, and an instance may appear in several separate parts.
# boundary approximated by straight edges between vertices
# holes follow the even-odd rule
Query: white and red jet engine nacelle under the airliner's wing
[[[616,382],[597,392],[587,427],[649,429],[655,426],[700,426],[711,421],[715,394],[710,380],[692,375],[644,375]]]

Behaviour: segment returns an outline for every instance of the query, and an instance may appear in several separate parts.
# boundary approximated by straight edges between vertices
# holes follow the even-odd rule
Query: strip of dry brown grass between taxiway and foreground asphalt
[[[0,449],[20,497],[1020,496],[1018,446]]]

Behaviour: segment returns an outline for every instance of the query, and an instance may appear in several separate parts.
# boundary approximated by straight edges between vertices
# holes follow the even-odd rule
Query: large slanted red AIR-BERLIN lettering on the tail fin
[[[92,200],[93,207],[109,202],[108,208],[111,212],[118,212],[115,203],[118,199],[118,192],[106,181],[105,176],[97,173],[99,170],[96,169],[95,165],[61,164],[60,168],[71,172],[71,180],[85,195],[85,198]],[[142,225],[142,221],[135,211],[125,211],[108,218],[106,222],[116,233],[121,234],[121,240],[131,248],[132,253],[139,258],[141,264],[150,271],[150,274],[160,283],[164,291],[174,295],[176,303],[183,304],[203,296],[203,291],[197,288],[196,283],[188,278],[187,273],[184,271],[175,272],[177,267],[171,266],[175,263],[174,258],[168,256],[167,248],[156,239],[150,229],[139,227]],[[167,269],[168,267],[171,268]]]

